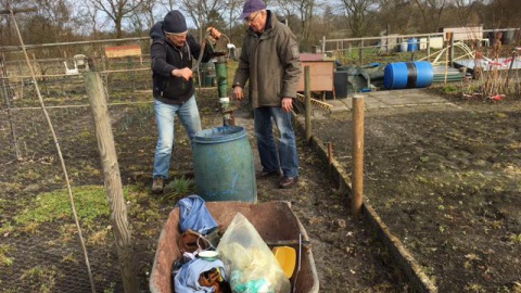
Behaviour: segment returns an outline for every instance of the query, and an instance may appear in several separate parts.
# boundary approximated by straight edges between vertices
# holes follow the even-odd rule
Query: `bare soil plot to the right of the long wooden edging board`
[[[365,201],[440,292],[521,292],[521,103],[445,99],[365,113]],[[313,123],[348,173],[351,128]]]

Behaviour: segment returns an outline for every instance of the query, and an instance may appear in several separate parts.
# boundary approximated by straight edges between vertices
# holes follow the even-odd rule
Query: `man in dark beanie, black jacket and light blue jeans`
[[[207,31],[215,39],[220,37],[220,33],[213,27]],[[185,16],[177,10],[168,12],[162,22],[156,23],[150,30],[150,36],[153,39],[150,55],[158,131],[152,192],[161,193],[170,167],[176,115],[185,126],[190,143],[195,132],[201,130],[191,69],[193,60],[201,53],[201,44],[188,34]],[[208,62],[212,58],[209,51],[205,50],[203,53],[202,62]]]

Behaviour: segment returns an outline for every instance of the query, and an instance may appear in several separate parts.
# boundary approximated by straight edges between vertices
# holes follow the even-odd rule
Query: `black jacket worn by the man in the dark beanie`
[[[167,104],[182,104],[195,92],[193,78],[185,80],[182,77],[171,75],[175,68],[192,67],[201,52],[201,44],[192,35],[187,36],[182,48],[177,48],[165,38],[163,22],[157,22],[150,29],[153,39],[150,47],[152,60],[152,79],[154,98]],[[205,48],[207,49],[207,47]],[[202,62],[208,62],[211,54],[205,50]]]

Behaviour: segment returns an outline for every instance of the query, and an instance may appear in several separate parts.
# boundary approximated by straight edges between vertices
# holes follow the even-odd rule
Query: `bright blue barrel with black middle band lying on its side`
[[[383,71],[386,89],[424,88],[433,78],[432,64],[427,61],[389,63]]]

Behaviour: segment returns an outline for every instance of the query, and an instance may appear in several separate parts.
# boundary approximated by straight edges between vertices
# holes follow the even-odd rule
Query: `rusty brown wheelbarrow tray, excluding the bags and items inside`
[[[236,216],[241,213],[255,227],[268,246],[287,245],[295,249],[298,263],[290,279],[292,292],[318,292],[318,276],[313,258],[309,238],[288,202],[206,202],[206,208],[224,232]],[[170,293],[174,291],[171,266],[181,254],[177,245],[180,235],[179,208],[174,208],[157,241],[154,264],[150,276],[152,293]],[[302,239],[302,241],[300,241]],[[298,251],[301,255],[298,256]]]

